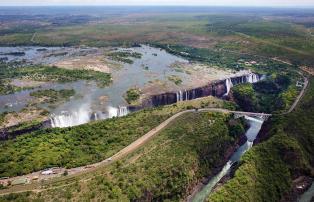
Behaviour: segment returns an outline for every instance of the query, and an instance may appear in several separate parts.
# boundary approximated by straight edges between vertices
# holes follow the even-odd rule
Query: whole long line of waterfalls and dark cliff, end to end
[[[147,107],[157,107],[163,105],[170,105],[176,102],[193,100],[206,96],[215,96],[218,98],[223,98],[228,96],[232,86],[241,83],[256,83],[263,79],[264,76],[248,73],[242,76],[236,76],[227,78],[225,80],[215,81],[209,83],[206,86],[189,89],[180,90],[178,92],[167,92],[159,95],[153,95],[143,100],[140,106],[108,106],[106,112],[97,111],[92,112],[89,107],[80,107],[77,111],[63,111],[61,115],[52,115],[50,117],[51,127],[70,127],[80,124],[87,123],[92,120],[101,120],[113,117],[121,117],[127,115],[129,112],[137,111],[139,109]]]

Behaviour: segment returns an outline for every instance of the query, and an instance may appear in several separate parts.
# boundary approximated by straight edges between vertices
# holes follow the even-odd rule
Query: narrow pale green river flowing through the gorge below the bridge
[[[222,170],[215,175],[208,184],[202,188],[200,192],[198,192],[194,198],[192,199],[193,202],[203,202],[205,199],[210,195],[213,188],[216,186],[216,184],[226,175],[230,172],[231,166],[238,162],[243,154],[247,152],[249,149],[253,146],[253,141],[255,140],[258,132],[260,131],[263,121],[259,119],[255,119],[252,117],[245,117],[245,119],[249,122],[250,128],[246,131],[245,135],[247,137],[247,141],[245,144],[243,144],[241,147],[237,149],[235,153],[231,156],[229,161],[225,164],[225,166],[222,168]]]

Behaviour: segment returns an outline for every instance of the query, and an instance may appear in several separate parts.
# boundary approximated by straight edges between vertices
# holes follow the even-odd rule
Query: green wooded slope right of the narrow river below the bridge
[[[268,140],[247,152],[234,178],[208,201],[280,201],[292,181],[314,176],[314,79],[301,104],[285,117],[274,117]]]

